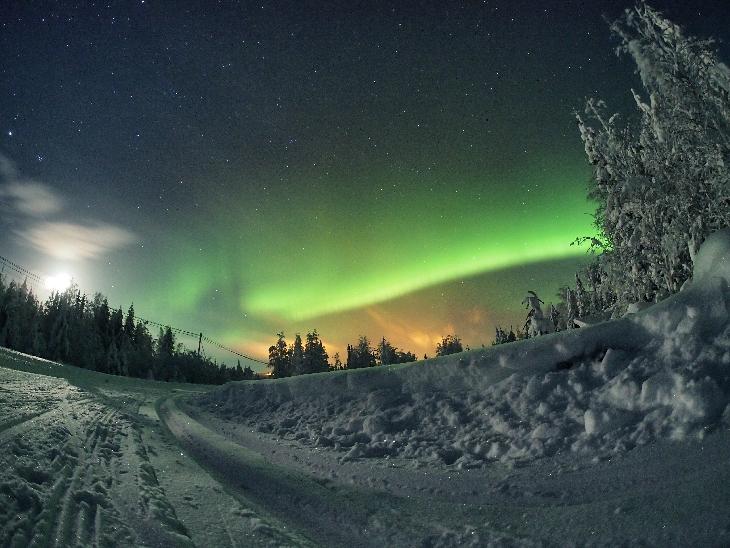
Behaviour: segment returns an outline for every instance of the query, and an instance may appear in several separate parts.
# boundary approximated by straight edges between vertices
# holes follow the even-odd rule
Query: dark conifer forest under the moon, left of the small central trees
[[[78,287],[41,302],[27,282],[0,276],[0,346],[113,375],[161,381],[223,384],[255,378],[250,367],[217,364],[185,348],[170,327],[153,337],[134,305],[113,309],[106,297],[89,299]]]

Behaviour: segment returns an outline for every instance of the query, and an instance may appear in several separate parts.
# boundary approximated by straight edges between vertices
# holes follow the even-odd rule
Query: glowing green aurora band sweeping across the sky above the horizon
[[[346,195],[324,189],[310,200],[251,196],[243,208],[217,204],[225,211],[218,215],[221,221],[230,225],[231,219],[242,219],[239,228],[198,227],[192,232],[196,237],[161,261],[175,265],[173,274],[164,285],[150,287],[142,302],[150,310],[171,309],[178,323],[199,323],[203,317],[226,344],[259,358],[277,331],[312,328],[335,345],[333,354],[364,334],[367,322],[362,320],[376,305],[405,302],[404,297],[418,292],[434,294],[428,290],[438,294],[439,287],[454,281],[520,265],[540,269],[544,262],[580,261],[585,249],[571,242],[594,233],[585,164],[558,167],[546,160],[523,172],[489,176],[497,178],[499,184],[487,182],[487,176],[452,181],[437,172],[425,184],[416,178],[396,184],[383,177],[375,185],[383,190],[375,193],[365,190],[373,187],[370,182],[354,185],[363,190]],[[336,183],[326,188],[333,187]],[[566,276],[562,283],[569,281]],[[520,291],[527,289],[545,290]],[[481,304],[507,307],[510,314],[498,318],[517,322],[519,297],[510,295],[512,303]],[[422,300],[421,313],[409,316],[414,331],[434,308],[428,298]],[[399,323],[398,306],[386,307]],[[468,331],[454,322],[447,327]],[[482,343],[488,342],[492,327],[480,326]],[[436,336],[434,331],[427,343],[419,344],[398,340],[397,333],[368,334],[395,337],[419,353],[432,351]]]

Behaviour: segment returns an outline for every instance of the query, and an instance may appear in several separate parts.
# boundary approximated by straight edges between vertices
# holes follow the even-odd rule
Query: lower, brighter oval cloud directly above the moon
[[[93,259],[134,240],[128,230],[105,223],[40,222],[16,234],[41,253],[71,261]]]

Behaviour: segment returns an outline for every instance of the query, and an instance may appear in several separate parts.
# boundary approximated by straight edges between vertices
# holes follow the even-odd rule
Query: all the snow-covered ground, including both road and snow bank
[[[730,545],[730,232],[621,320],[218,388],[0,354],[0,546]]]

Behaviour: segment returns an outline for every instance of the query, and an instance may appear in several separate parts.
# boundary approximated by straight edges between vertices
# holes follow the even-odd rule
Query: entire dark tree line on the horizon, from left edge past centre
[[[101,293],[89,298],[73,285],[41,302],[27,281],[7,281],[0,275],[0,346],[92,371],[150,380],[223,384],[261,378],[249,366],[242,368],[240,361],[227,367],[186,348],[169,326],[160,327],[156,337],[148,326],[136,318],[134,305],[124,314],[121,308],[110,307]],[[447,335],[435,354],[462,350],[461,339]],[[344,363],[339,353],[330,363],[314,330],[304,340],[297,334],[291,345],[283,333],[278,333],[276,343],[269,348],[268,366],[271,375],[278,378],[416,359],[414,353],[393,346],[385,337],[373,346],[368,337],[361,336],[347,346]]]

